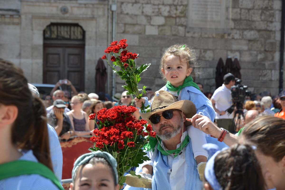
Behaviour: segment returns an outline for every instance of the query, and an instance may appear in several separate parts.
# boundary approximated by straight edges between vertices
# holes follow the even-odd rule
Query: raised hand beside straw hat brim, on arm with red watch
[[[206,134],[212,135],[218,138],[221,134],[221,129],[219,129],[215,124],[206,116],[195,114],[191,119],[186,118],[187,121],[191,121],[195,128],[200,129]]]

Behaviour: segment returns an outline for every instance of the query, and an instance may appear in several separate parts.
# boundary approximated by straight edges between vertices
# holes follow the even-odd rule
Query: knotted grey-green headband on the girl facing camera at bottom
[[[82,156],[79,156],[76,159],[76,161],[74,162],[73,169],[72,169],[72,182],[74,183],[75,175],[76,175],[76,172],[79,166],[86,164],[93,157],[104,158],[112,166],[113,170],[115,171],[115,175],[116,175],[116,183],[119,183],[118,171],[117,171],[117,161],[108,152],[101,152],[100,150],[97,150],[96,152],[90,152],[87,154],[83,154]]]

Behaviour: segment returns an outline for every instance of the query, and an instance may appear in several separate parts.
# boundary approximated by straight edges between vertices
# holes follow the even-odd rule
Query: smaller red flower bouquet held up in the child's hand
[[[126,81],[126,85],[123,87],[128,91],[127,94],[133,94],[138,99],[141,99],[143,93],[146,93],[146,86],[143,86],[143,89],[138,88],[138,83],[141,80],[141,73],[144,72],[150,64],[142,64],[140,67],[137,67],[135,64],[135,59],[138,58],[138,54],[129,52],[127,50],[127,40],[122,39],[114,41],[110,46],[105,50],[105,53],[111,55],[110,63],[107,60],[107,56],[104,55],[102,59],[107,60],[109,66],[113,68],[114,73],[117,73],[122,80]],[[120,70],[116,70],[115,66],[119,67]],[[141,93],[140,93],[141,91]],[[142,105],[141,112],[145,113],[145,107]]]

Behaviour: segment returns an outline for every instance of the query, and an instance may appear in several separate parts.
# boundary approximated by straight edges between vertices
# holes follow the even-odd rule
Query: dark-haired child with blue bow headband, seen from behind
[[[206,190],[265,190],[261,168],[251,146],[235,144],[223,151],[215,146],[203,145],[208,150],[218,150],[205,168]]]

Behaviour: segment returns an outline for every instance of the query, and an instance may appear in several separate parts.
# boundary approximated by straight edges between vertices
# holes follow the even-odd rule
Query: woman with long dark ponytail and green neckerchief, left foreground
[[[46,109],[20,68],[0,60],[0,189],[63,189],[52,172]]]

